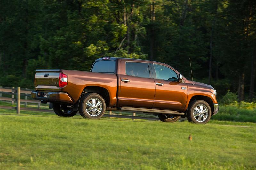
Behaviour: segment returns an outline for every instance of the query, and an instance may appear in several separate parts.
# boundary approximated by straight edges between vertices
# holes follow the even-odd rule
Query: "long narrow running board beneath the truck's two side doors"
[[[145,108],[136,108],[136,107],[117,107],[117,110],[122,111],[137,111],[144,113],[162,113],[162,114],[172,114],[172,115],[185,115],[184,112],[177,112],[172,110],[161,110],[161,109],[145,109]]]

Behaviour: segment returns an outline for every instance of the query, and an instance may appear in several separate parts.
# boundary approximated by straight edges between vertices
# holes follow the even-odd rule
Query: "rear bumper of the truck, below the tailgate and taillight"
[[[33,91],[31,92],[31,97],[35,100],[47,100],[51,101],[58,101],[64,103],[72,103],[72,99],[69,97],[67,93],[63,92],[48,92],[47,97],[38,97],[38,92]]]

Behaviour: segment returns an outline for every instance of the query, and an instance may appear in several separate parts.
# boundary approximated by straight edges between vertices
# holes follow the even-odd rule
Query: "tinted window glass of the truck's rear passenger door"
[[[148,63],[141,62],[126,62],[126,75],[150,78]]]

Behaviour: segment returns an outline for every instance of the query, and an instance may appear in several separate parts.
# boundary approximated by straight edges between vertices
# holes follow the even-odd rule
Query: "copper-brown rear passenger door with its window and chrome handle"
[[[151,108],[155,82],[145,61],[120,61],[120,106]]]

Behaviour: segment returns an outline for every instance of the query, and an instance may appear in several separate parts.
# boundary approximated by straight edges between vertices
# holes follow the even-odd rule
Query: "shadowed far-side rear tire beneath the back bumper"
[[[53,103],[53,110],[56,115],[60,117],[73,117],[76,115],[77,111],[73,108],[68,108],[67,104]]]

